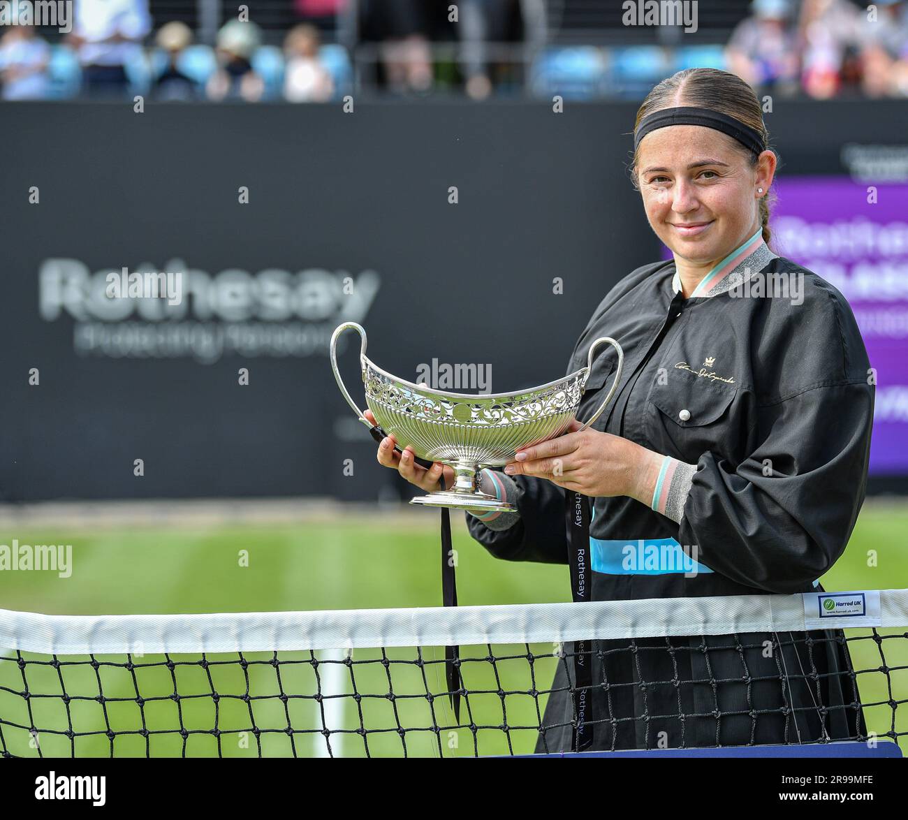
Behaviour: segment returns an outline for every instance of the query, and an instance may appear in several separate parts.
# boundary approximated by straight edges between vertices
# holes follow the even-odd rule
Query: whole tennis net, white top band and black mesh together
[[[908,590],[178,616],[0,609],[0,754],[886,739],[908,750],[906,638]],[[458,647],[457,709],[445,647]]]

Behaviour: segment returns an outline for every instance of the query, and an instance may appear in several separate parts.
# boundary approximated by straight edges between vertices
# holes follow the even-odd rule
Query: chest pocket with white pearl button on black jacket
[[[743,438],[735,420],[737,388],[684,370],[654,383],[646,402],[646,434],[656,450],[695,464],[706,450],[737,462]],[[674,451],[672,451],[674,450]]]

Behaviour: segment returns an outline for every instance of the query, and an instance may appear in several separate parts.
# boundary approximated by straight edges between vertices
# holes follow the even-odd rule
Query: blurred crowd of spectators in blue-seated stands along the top
[[[206,43],[186,23],[153,16],[149,0],[74,0],[72,31],[56,38],[16,17],[13,0],[13,25],[0,26],[2,96],[306,103],[375,90],[639,99],[667,74],[711,65],[758,92],[908,97],[908,0],[743,0],[721,42],[666,40],[654,30],[651,42],[627,45],[584,43],[576,31],[563,42],[551,6],[568,0],[284,2],[297,21],[289,30],[263,29],[251,3],[251,19],[227,19]],[[699,4],[701,18],[709,3]]]

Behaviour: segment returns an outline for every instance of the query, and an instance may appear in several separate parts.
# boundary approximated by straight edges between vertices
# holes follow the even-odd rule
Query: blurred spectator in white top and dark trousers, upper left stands
[[[152,29],[148,0],[76,0],[69,42],[82,64],[84,92],[124,96],[126,64],[142,58],[142,41]]]

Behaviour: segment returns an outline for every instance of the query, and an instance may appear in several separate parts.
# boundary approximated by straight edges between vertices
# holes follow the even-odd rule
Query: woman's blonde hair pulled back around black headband
[[[646,99],[637,109],[637,120],[634,131],[649,114],[662,111],[664,108],[674,108],[679,105],[693,105],[697,108],[708,108],[721,114],[734,117],[740,123],[745,123],[753,128],[756,133],[763,136],[763,150],[773,151],[769,147],[769,131],[763,122],[763,111],[756,99],[754,89],[745,83],[736,74],[719,71],[716,68],[687,68],[666,77],[661,83],[646,94]],[[723,136],[726,136],[723,134]],[[748,150],[733,137],[726,139],[734,146],[736,151],[745,155],[752,168],[757,165],[757,154]],[[639,190],[637,183],[638,150],[634,152],[631,163],[634,187]],[[760,225],[763,229],[763,240],[769,244],[772,233],[769,230],[769,192],[760,198]]]

